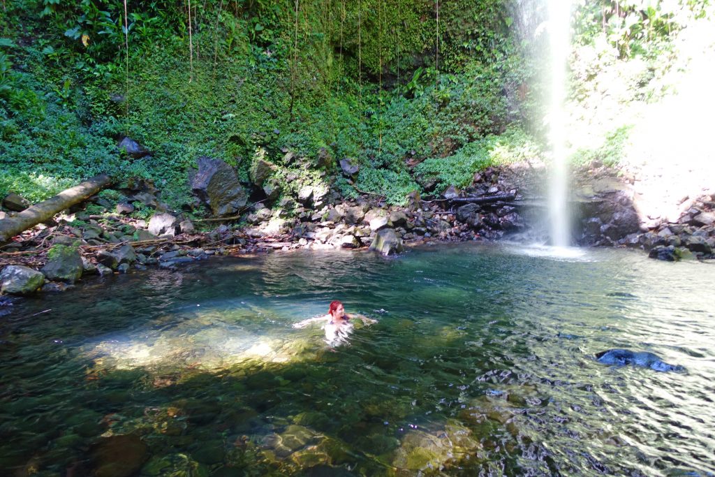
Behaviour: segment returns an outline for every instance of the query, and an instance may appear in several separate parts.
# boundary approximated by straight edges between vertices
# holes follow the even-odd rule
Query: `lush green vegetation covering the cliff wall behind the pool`
[[[624,64],[621,104],[660,97],[671,39],[710,14],[705,1],[641,3],[576,11],[578,104],[602,99],[598,78],[626,78]],[[284,191],[326,185],[401,203],[423,177],[463,187],[480,168],[541,154],[538,59],[515,34],[509,0],[207,0],[192,4],[190,25],[184,4],[164,0],[132,2],[127,18],[106,0],[4,8],[0,195],[41,200],[105,172],[152,180],[178,208],[197,157],[247,180],[265,151]],[[602,147],[573,144],[575,160],[618,162],[628,124],[610,124],[591,128]],[[124,135],[152,155],[119,152]],[[285,152],[300,166],[283,164]],[[337,166],[345,157],[360,165],[354,184]]]

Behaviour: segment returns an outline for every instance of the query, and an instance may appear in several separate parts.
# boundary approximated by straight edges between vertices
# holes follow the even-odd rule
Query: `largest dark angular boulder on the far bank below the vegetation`
[[[233,167],[205,156],[199,157],[197,162],[199,170],[192,177],[191,188],[214,215],[235,214],[246,205],[248,195]]]

